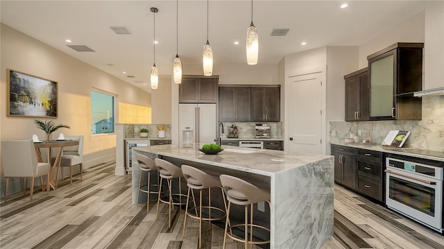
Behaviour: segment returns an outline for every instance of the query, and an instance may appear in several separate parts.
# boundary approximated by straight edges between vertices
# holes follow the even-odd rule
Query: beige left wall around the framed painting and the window
[[[151,107],[151,94],[119,80],[85,62],[1,24],[1,121],[0,139],[30,139],[44,132],[35,128],[34,118],[7,117],[6,69],[22,71],[58,83],[58,118],[65,135],[84,135],[84,165],[95,165],[114,157],[115,135],[91,135],[90,91],[101,89],[117,96],[121,103]],[[116,119],[118,120],[118,119]],[[59,132],[55,132],[55,136]]]

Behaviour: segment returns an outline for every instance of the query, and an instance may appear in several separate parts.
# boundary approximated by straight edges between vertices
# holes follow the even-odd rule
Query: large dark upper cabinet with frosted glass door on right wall
[[[368,55],[370,120],[420,120],[423,43],[396,43]]]

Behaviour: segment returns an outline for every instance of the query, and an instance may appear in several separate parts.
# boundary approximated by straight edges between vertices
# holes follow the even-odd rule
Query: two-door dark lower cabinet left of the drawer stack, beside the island
[[[334,182],[351,189],[356,185],[356,149],[332,145],[334,155]]]

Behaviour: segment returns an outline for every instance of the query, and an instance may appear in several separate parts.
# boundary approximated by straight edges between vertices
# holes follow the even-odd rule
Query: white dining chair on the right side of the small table
[[[82,164],[83,164],[83,135],[80,136],[65,136],[67,140],[76,140],[78,145],[76,146],[66,146],[63,147],[63,154],[60,160],[60,167],[62,169],[62,180],[65,180],[65,175],[63,174],[63,168],[69,167],[69,184],[72,184],[72,168],[73,166],[79,166],[80,169],[80,180],[82,179]],[[56,160],[53,157],[52,162]]]

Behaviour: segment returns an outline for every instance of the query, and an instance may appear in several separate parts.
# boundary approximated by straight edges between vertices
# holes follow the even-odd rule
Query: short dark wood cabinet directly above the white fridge
[[[218,77],[184,76],[179,85],[179,103],[217,103]]]

